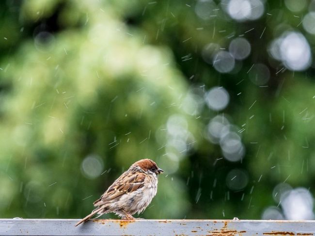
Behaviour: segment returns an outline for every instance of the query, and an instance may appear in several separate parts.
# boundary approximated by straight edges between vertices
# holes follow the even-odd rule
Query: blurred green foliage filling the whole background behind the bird
[[[281,1],[265,2],[261,18],[244,22],[220,9],[201,19],[191,0],[0,4],[1,217],[83,217],[146,157],[165,174],[145,218],[260,219],[278,205],[278,183],[314,193],[314,69],[278,73],[268,54],[284,30],[305,33]],[[246,31],[252,52],[238,71],[222,74],[202,58],[205,45],[227,48],[231,35]],[[314,48],[314,36],[306,38]],[[254,63],[270,65],[268,86],[251,82]],[[221,113],[246,124],[241,161],[222,159],[220,145],[205,137],[219,112],[200,97],[213,86],[230,96]],[[172,127],[185,152],[166,146]],[[86,173],[87,157],[102,174]],[[227,179],[236,168],[248,175],[237,191]]]

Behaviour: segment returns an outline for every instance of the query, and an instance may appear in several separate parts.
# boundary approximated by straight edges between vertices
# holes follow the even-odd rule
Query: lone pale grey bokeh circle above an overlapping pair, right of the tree
[[[205,93],[205,102],[212,110],[222,110],[226,108],[229,100],[229,93],[222,87],[213,87]]]

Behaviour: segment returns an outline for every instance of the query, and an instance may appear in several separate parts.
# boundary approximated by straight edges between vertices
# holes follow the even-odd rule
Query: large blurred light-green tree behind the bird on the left
[[[169,49],[143,46],[139,33],[129,33],[110,6],[101,6],[47,3],[42,9],[24,2],[23,18],[42,23],[3,64],[1,84],[10,87],[1,97],[1,211],[7,217],[84,215],[140,158],[178,169],[176,158],[159,160],[165,153],[160,147],[170,116],[189,121],[190,130],[196,126],[179,107],[187,84]],[[70,22],[77,27],[48,31],[58,22],[43,22],[61,20],[63,11],[79,15]],[[188,130],[181,135],[193,139]],[[160,182],[146,214],[182,216],[189,209],[185,184],[176,176]]]

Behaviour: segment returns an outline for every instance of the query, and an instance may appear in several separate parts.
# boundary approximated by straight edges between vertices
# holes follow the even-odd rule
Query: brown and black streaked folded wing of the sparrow
[[[118,201],[124,194],[141,189],[144,185],[146,174],[142,172],[125,172],[107,189],[94,206],[110,204]]]

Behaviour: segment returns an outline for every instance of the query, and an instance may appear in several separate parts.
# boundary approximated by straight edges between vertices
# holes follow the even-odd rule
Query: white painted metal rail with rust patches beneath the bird
[[[0,219],[0,235],[310,236],[314,220],[79,220]]]

